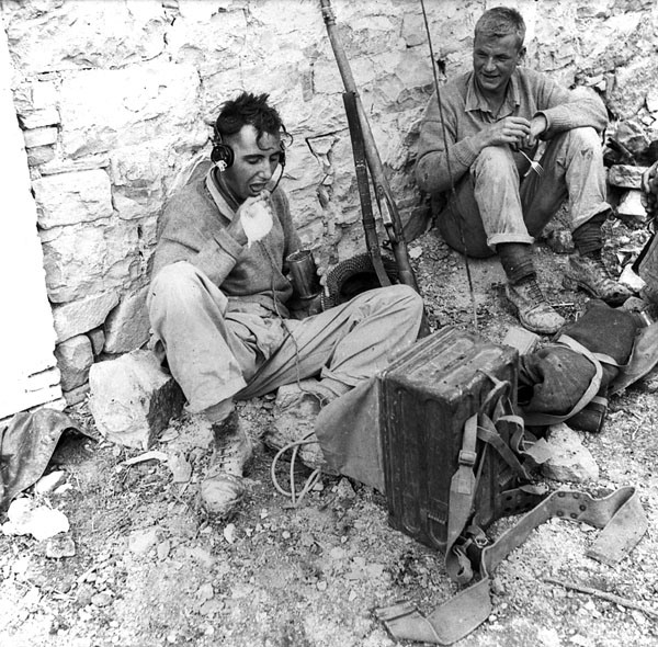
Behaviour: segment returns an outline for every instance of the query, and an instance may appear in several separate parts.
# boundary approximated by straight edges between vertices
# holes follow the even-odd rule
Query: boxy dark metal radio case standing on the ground
[[[497,383],[515,406],[518,352],[445,327],[418,341],[379,375],[379,416],[389,523],[446,549],[451,479],[460,466],[465,422],[487,404]],[[497,382],[499,381],[499,382]],[[503,439],[509,442],[509,439]],[[502,517],[501,492],[515,476],[477,441],[474,512],[486,527]]]

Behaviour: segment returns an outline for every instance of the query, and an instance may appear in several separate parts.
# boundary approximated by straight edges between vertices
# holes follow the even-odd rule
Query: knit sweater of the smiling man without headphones
[[[447,191],[451,182],[460,180],[479,154],[475,136],[507,116],[531,121],[543,114],[547,127],[542,139],[583,126],[602,132],[608,125],[603,102],[593,92],[569,91],[546,75],[523,67],[517,68],[511,76],[498,114],[491,113],[478,91],[473,71],[446,83],[441,88],[440,97],[441,110],[434,93],[420,127],[416,179],[419,188],[428,193]],[[447,155],[444,141],[447,143]],[[517,152],[515,157],[521,168],[521,154]]]

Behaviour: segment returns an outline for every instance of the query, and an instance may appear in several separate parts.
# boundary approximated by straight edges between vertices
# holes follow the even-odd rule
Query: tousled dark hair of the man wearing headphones
[[[279,135],[282,130],[285,133],[279,112],[268,104],[269,98],[269,94],[242,92],[235,99],[226,101],[215,122],[215,137],[229,137],[247,125],[256,128],[258,139],[265,133],[270,135]]]

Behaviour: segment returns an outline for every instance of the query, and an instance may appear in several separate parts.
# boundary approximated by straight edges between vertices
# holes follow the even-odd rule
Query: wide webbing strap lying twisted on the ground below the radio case
[[[519,523],[484,548],[479,557],[480,579],[424,616],[409,602],[377,610],[394,638],[452,645],[477,628],[491,614],[490,578],[496,567],[530,533],[554,517],[602,527],[589,557],[604,564],[620,561],[642,538],[648,523],[633,487],[624,487],[603,499],[586,492],[557,490],[524,514]]]

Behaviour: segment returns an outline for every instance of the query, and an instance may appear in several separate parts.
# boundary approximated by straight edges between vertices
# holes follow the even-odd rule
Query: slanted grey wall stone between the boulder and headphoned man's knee
[[[148,285],[126,295],[105,321],[105,352],[134,351],[148,341],[150,322],[146,309]]]

